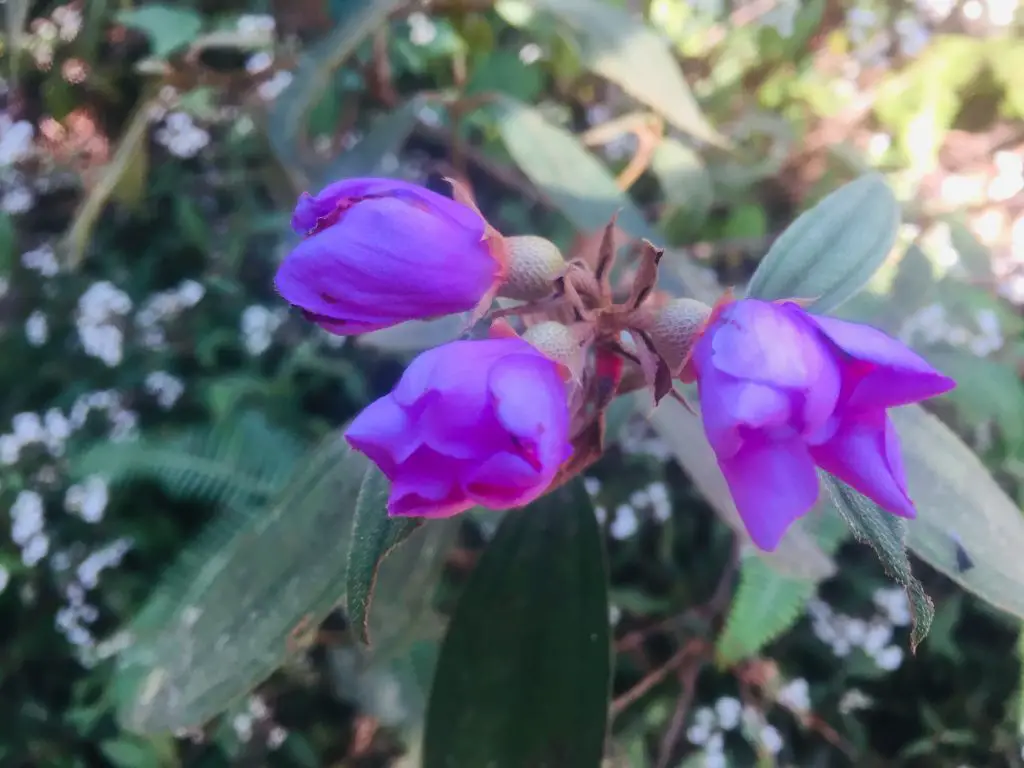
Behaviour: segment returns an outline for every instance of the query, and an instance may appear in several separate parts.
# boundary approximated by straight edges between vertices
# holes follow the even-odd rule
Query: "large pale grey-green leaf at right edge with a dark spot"
[[[918,406],[890,412],[903,443],[918,517],[907,545],[968,592],[1024,618],[1024,516],[984,465],[942,422]],[[962,567],[957,550],[972,561]]]

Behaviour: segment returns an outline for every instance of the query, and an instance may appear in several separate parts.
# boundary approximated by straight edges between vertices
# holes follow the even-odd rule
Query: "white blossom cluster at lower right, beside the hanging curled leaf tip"
[[[819,599],[811,600],[807,609],[814,634],[837,656],[859,648],[880,669],[892,672],[903,664],[903,649],[892,643],[893,631],[910,624],[910,606],[902,590],[879,590],[874,602],[880,612],[870,621],[837,613]]]

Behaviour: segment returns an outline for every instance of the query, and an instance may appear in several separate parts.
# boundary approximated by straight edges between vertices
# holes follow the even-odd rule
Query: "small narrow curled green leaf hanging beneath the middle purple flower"
[[[348,618],[370,644],[370,603],[381,561],[423,522],[414,517],[389,517],[387,496],[391,483],[376,467],[367,470],[355,503],[352,546],[348,551],[346,584]]]

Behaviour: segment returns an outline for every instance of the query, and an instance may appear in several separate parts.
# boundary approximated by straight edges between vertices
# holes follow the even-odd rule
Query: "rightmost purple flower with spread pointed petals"
[[[815,467],[914,516],[886,409],[955,382],[901,343],[792,302],[744,299],[716,309],[692,364],[705,431],[759,547],[774,550],[814,506]]]

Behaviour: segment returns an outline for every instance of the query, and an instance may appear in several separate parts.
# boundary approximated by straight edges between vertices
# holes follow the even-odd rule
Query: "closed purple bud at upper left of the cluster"
[[[278,269],[278,291],[333,334],[473,309],[503,276],[476,211],[404,181],[304,194],[292,228],[306,238]]]

